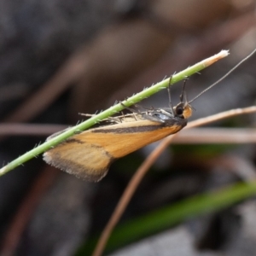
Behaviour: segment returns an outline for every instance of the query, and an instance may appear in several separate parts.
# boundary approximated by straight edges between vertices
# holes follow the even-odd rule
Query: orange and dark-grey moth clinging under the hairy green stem
[[[170,90],[169,96],[170,96]],[[171,96],[170,96],[171,97]],[[113,125],[83,131],[44,153],[52,166],[85,180],[102,179],[109,166],[126,154],[174,134],[187,125],[192,113],[189,102],[119,117]]]

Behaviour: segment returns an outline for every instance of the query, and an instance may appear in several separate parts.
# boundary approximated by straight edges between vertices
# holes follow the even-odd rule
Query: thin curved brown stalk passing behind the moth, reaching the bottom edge
[[[237,108],[229,111],[225,111],[222,113],[217,113],[207,118],[197,119],[187,125],[185,128],[192,128],[195,126],[206,125],[212,123],[214,121],[220,119],[226,119],[232,116],[236,116],[244,113],[255,113],[256,107],[248,107],[248,108]],[[157,148],[154,148],[154,151],[148,155],[148,158],[144,160],[143,164],[137,169],[137,172],[131,178],[130,183],[128,183],[123,195],[121,196],[117,207],[115,208],[111,218],[108,221],[105,229],[102,231],[102,235],[96,245],[95,251],[92,256],[101,256],[108,241],[109,236],[112,233],[113,228],[119,222],[119,218],[122,216],[123,212],[125,212],[125,208],[128,203],[131,201],[131,197],[137,189],[139,183],[141,183],[143,177],[148,172],[150,166],[154,164],[154,161],[159,157],[159,155],[163,152],[163,150],[172,142],[173,137],[175,135],[166,137]]]

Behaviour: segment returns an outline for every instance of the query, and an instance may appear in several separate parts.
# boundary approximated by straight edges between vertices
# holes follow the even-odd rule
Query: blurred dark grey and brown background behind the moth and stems
[[[230,49],[230,56],[189,78],[192,99],[255,48],[255,6],[253,0],[2,0],[1,163],[77,124],[83,119],[79,113],[106,109]],[[256,55],[197,99],[191,120],[252,106],[255,67]],[[174,104],[181,84],[172,87]],[[166,107],[166,90],[141,104]],[[242,129],[255,126],[255,114],[214,125],[246,132]],[[93,237],[107,224],[132,174],[154,146],[116,161],[100,183],[47,166],[42,156],[1,177],[1,255],[90,255],[86,248],[94,246]],[[172,145],[143,179],[121,223],[192,195],[251,181],[255,149],[253,142]],[[127,238],[129,247],[116,241],[115,253],[108,253],[255,255],[255,212],[253,199],[241,201],[157,228],[154,234],[148,231],[132,244]]]

